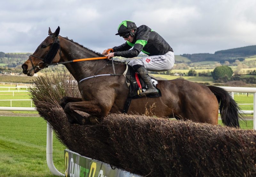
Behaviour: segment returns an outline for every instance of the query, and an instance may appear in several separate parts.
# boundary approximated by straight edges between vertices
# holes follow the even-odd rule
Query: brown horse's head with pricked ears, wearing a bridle
[[[23,73],[33,76],[36,72],[44,69],[47,64],[57,63],[60,61],[60,27],[54,33],[49,27],[49,36],[36,48],[36,51],[29,56],[28,60],[22,64]]]

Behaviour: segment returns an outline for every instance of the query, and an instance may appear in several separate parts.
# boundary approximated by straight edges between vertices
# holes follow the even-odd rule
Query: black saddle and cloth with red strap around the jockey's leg
[[[132,66],[128,64],[126,65],[126,70],[124,71],[124,75],[126,78],[127,86],[129,88],[129,93],[124,104],[123,113],[127,113],[132,99],[140,99],[145,97],[145,96],[140,96],[139,94],[140,92],[144,92],[147,90],[147,85],[142,80],[140,75],[132,68]],[[158,93],[155,95],[146,95],[146,97],[150,97],[150,98],[161,97],[162,96],[161,91],[157,88],[157,84],[158,84],[157,79],[151,77],[151,80],[153,85],[158,90]]]

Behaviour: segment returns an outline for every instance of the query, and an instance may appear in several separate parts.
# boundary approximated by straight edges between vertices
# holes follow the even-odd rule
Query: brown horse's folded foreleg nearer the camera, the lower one
[[[79,125],[95,124],[100,121],[101,117],[108,115],[111,106],[111,104],[108,104],[108,106],[102,105],[95,100],[69,102],[65,106],[64,112],[66,113],[68,122],[70,123],[77,123]],[[84,117],[78,114],[75,110],[84,111],[90,114],[90,116]]]

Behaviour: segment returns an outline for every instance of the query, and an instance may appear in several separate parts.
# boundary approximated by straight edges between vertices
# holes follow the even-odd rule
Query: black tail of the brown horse
[[[212,85],[209,85],[208,87],[219,102],[222,123],[229,127],[239,127],[238,120],[242,118],[242,116],[238,113],[240,108],[236,101],[226,90]]]

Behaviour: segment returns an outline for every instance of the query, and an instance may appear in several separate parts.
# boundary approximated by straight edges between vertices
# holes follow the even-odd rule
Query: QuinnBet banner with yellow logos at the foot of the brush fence
[[[64,150],[66,177],[141,177],[124,170],[112,169],[109,164],[93,160],[80,154]]]

